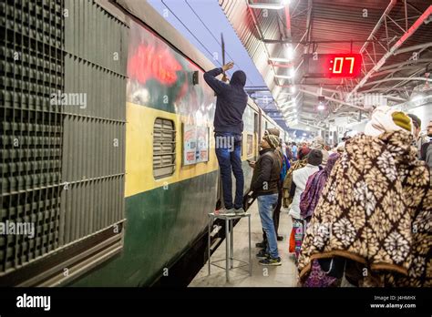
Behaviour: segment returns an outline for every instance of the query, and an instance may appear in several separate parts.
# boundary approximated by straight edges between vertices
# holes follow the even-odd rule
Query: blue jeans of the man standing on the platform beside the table
[[[274,230],[273,210],[277,205],[278,194],[258,196],[258,211],[260,212],[262,229],[267,235],[267,253],[273,259],[279,258],[277,250],[276,230]]]

